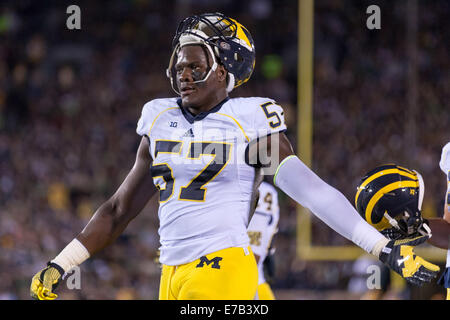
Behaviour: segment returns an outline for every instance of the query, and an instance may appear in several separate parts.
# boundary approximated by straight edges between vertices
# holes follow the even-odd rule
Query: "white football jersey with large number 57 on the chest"
[[[257,137],[286,129],[282,108],[268,98],[227,98],[196,116],[180,101],[146,103],[136,129],[150,142],[166,265],[249,245],[255,169],[245,163],[245,149]]]

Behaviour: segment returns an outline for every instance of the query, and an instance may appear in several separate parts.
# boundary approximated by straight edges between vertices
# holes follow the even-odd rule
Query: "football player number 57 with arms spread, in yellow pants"
[[[399,263],[428,236],[390,241],[302,163],[274,100],[229,98],[254,66],[252,37],[236,20],[208,13],[179,24],[167,69],[178,97],[143,106],[133,168],[76,238],[33,277],[33,297],[56,298],[61,276],[113,242],[139,214],[155,190],[153,180],[159,191],[159,298],[253,299],[258,271],[247,226],[257,167],[275,167],[273,181],[283,192],[407,280],[436,276],[439,268],[421,258]]]

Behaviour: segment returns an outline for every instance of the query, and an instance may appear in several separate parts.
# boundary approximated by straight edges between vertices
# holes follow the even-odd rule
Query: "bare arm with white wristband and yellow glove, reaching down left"
[[[62,275],[113,242],[157,190],[150,175],[149,142],[143,137],[136,161],[115,194],[103,203],[78,236],[32,279],[35,299],[53,300]]]

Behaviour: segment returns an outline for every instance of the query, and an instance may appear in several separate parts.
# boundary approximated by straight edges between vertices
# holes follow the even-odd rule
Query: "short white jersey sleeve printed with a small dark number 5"
[[[277,105],[274,100],[260,98],[257,104],[254,109],[252,140],[287,129],[283,108]]]

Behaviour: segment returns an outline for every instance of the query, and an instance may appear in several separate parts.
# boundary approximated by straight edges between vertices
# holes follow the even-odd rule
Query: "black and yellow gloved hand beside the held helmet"
[[[391,240],[381,250],[380,260],[408,282],[422,285],[437,276],[439,267],[417,256],[415,246],[427,241],[429,236],[413,239]]]

